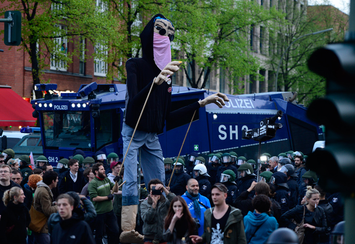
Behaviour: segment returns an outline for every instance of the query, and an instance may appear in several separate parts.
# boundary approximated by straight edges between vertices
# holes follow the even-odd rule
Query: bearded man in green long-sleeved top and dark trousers
[[[95,241],[97,244],[102,243],[104,225],[110,230],[108,236],[108,243],[119,243],[119,229],[117,224],[117,217],[113,212],[111,189],[113,192],[118,191],[118,185],[115,186],[109,178],[105,175],[105,168],[102,163],[95,163],[93,165],[93,173],[95,178],[88,186],[90,199],[93,201],[97,217],[95,221]]]

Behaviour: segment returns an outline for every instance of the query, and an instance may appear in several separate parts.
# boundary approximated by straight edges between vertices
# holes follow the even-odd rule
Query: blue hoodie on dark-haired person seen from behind
[[[246,242],[261,244],[265,243],[271,233],[278,228],[278,223],[274,217],[270,217],[267,213],[257,214],[255,211],[254,213],[249,211],[244,217],[244,226]],[[258,226],[260,227],[256,231]]]

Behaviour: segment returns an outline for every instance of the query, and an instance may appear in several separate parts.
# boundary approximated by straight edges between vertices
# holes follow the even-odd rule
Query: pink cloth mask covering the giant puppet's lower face
[[[168,36],[153,33],[153,54],[156,66],[163,70],[171,62],[171,47]]]

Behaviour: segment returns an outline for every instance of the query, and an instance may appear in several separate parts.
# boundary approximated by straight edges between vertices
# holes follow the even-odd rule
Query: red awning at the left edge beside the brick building
[[[10,87],[0,87],[0,126],[34,126],[32,105]]]

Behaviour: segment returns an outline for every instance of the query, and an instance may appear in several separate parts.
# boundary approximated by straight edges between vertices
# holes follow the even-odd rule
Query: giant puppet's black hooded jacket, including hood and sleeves
[[[134,128],[138,121],[144,102],[155,77],[161,72],[154,62],[153,55],[153,28],[155,17],[164,17],[156,14],[140,33],[143,58],[131,58],[126,62],[127,90],[126,110],[124,121]],[[165,121],[177,127],[190,122],[194,110],[200,108],[198,102],[186,107],[171,111],[172,83],[163,82],[153,85],[147,105],[140,119],[138,130],[144,132],[163,132]],[[182,119],[182,117],[186,119]]]

